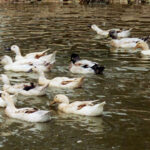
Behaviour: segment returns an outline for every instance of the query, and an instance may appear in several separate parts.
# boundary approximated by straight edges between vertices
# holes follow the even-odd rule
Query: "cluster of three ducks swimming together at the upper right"
[[[103,38],[111,37],[112,40],[109,42],[110,46],[114,48],[121,48],[126,50],[140,49],[140,56],[143,58],[150,57],[150,48],[147,44],[150,36],[145,38],[129,38],[131,35],[132,28],[125,29],[110,29],[102,30],[97,25],[92,25],[91,28]]]

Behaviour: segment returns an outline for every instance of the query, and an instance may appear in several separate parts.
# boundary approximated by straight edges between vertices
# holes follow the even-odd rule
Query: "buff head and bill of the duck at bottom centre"
[[[50,106],[55,103],[65,103],[69,104],[69,98],[66,95],[58,94],[54,97],[54,100],[50,103]]]

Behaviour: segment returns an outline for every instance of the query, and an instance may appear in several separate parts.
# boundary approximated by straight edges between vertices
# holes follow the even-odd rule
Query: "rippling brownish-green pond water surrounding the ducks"
[[[112,52],[110,39],[101,39],[88,26],[103,29],[133,28],[133,37],[150,35],[150,5],[83,6],[76,3],[0,5],[0,55],[14,56],[5,47],[17,44],[23,54],[51,48],[56,64],[48,78],[79,77],[68,71],[70,55],[96,61],[106,67],[103,75],[86,75],[75,90],[48,89],[42,97],[18,96],[18,107],[50,109],[56,94],[71,101],[106,101],[101,117],[66,115],[52,111],[48,123],[10,119],[0,108],[0,149],[46,150],[149,150],[150,62],[137,53]],[[36,81],[34,73],[5,72],[12,83]],[[2,87],[2,84],[1,84]]]

